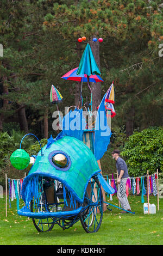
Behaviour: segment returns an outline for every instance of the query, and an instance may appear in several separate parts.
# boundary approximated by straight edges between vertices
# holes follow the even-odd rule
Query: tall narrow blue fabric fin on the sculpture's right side
[[[106,94],[105,94],[106,95]],[[94,154],[96,160],[99,160],[104,155],[105,151],[108,148],[111,137],[111,130],[107,124],[106,112],[105,112],[105,95],[99,105],[96,124],[95,124],[95,145],[94,145]]]

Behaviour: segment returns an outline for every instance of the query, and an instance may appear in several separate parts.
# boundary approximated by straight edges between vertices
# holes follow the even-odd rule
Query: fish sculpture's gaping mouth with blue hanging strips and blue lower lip
[[[18,214],[34,218],[59,217],[77,215],[82,204],[77,202],[73,194],[57,179],[49,176],[35,175],[28,179],[23,188],[26,206]]]

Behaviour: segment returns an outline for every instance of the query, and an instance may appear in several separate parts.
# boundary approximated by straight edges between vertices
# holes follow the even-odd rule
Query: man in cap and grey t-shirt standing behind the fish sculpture
[[[131,211],[131,208],[127,199],[127,195],[126,195],[126,182],[127,182],[127,179],[129,178],[126,162],[120,157],[120,150],[118,149],[113,150],[111,155],[112,155],[112,158],[116,160],[116,168],[118,172],[118,179],[117,179],[118,200],[121,203],[122,209]],[[121,213],[124,214],[124,213],[127,213],[127,211],[121,211]]]

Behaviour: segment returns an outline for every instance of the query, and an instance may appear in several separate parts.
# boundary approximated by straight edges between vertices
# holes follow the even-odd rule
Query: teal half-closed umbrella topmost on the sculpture
[[[85,47],[82,59],[79,63],[79,68],[77,70],[77,75],[84,74],[87,76],[101,75],[89,44],[87,44]]]

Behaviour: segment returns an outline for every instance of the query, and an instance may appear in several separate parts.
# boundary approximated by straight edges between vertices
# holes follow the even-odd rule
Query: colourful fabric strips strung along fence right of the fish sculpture
[[[108,184],[114,188],[115,190],[115,193],[117,193],[117,187],[116,187],[116,179],[114,178],[114,174],[110,174],[112,175],[111,179],[109,179],[109,175],[105,175],[106,176],[106,181],[108,182]],[[156,196],[158,194],[158,190],[157,190],[157,186],[156,186],[156,179],[157,179],[157,175],[156,174],[152,174],[152,175],[149,175],[148,178],[146,178],[147,175],[145,176],[141,176],[141,177],[130,177],[127,179],[127,182],[126,182],[126,194],[127,194],[127,197],[129,195],[129,190],[131,190],[131,187],[132,187],[132,192],[133,192],[133,195],[137,194],[139,195],[141,193],[141,202],[142,203],[145,203],[145,200],[144,200],[144,196],[147,194],[146,191],[148,189],[145,188],[145,181],[147,181],[147,179],[149,179],[149,182],[148,182],[148,185],[149,186],[149,195],[153,194],[154,196]],[[145,179],[146,178],[146,179]],[[140,186],[140,181],[141,181],[141,186]],[[141,192],[140,192],[141,190]],[[109,198],[110,197],[110,200],[112,200],[112,196],[114,194],[107,194],[107,197]]]

